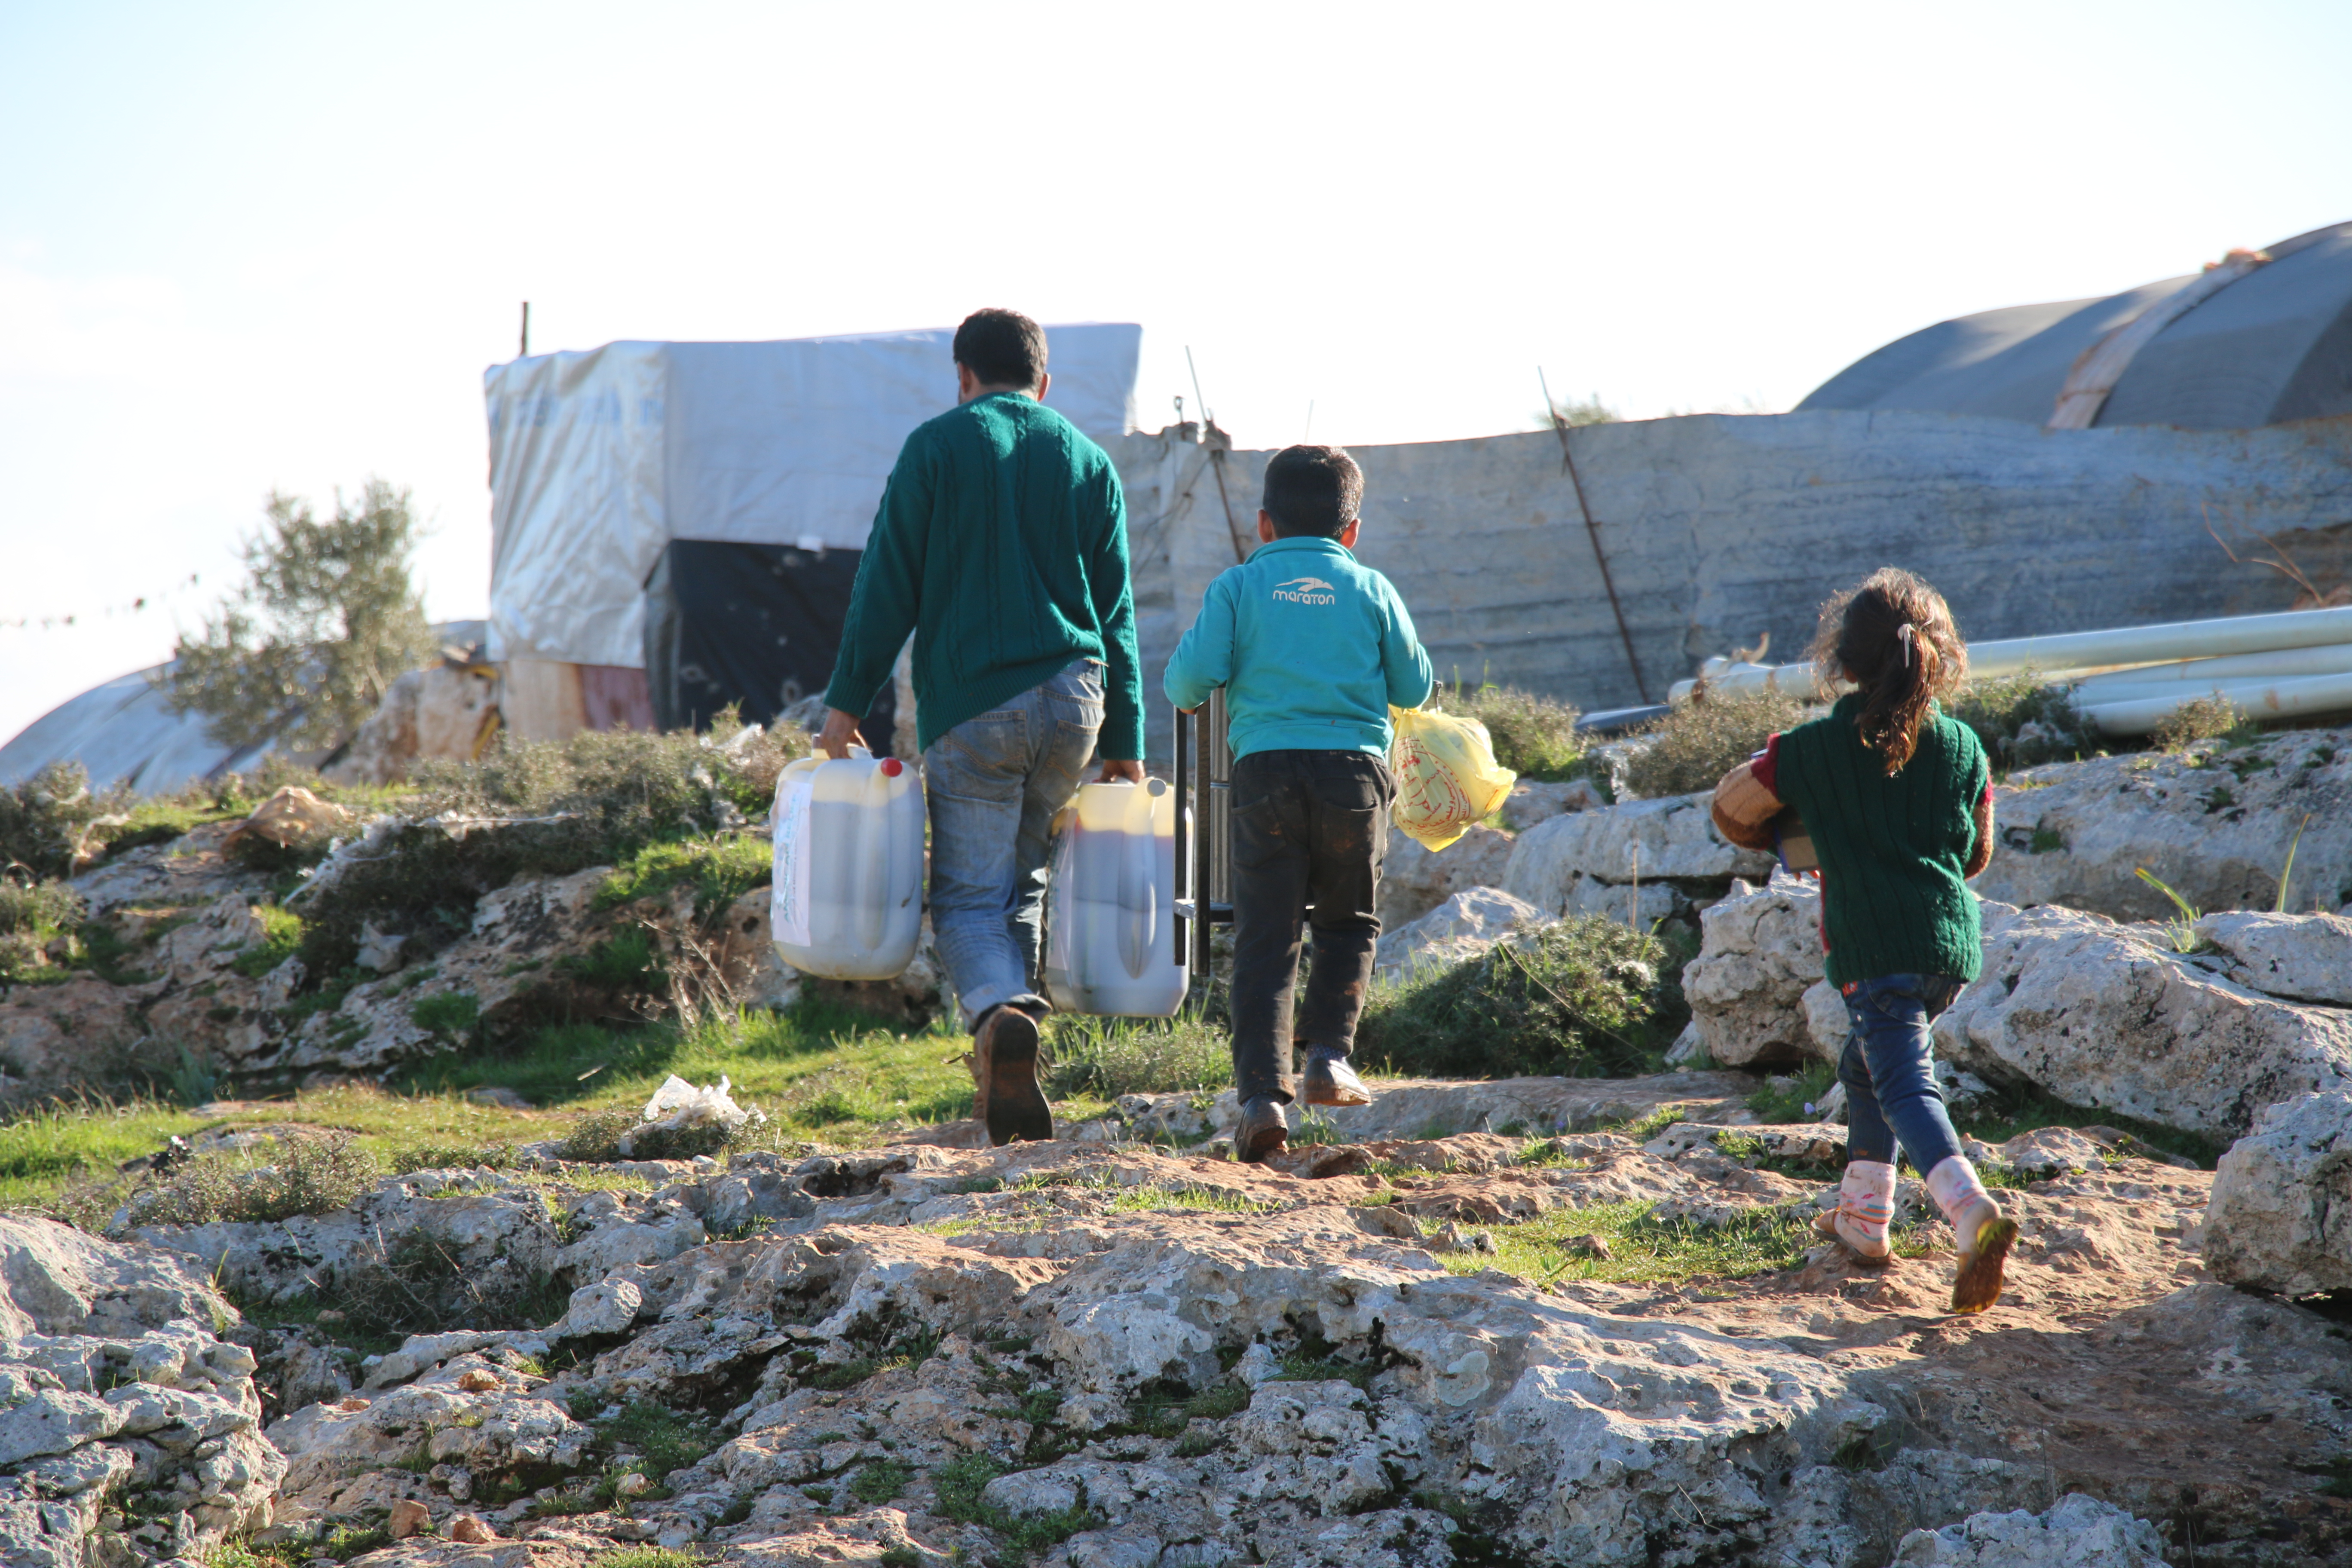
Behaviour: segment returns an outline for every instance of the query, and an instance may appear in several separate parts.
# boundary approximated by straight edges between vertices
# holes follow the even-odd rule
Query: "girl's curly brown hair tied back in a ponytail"
[[[1863,745],[1893,778],[1919,750],[1926,705],[1969,679],[1969,644],[1943,595],[1900,567],[1879,567],[1860,588],[1820,607],[1813,679],[1830,691],[1851,679],[1863,693]]]

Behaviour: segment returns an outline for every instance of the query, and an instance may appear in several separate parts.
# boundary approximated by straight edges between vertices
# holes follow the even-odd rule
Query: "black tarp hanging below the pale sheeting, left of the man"
[[[727,703],[774,724],[823,691],[858,555],[673,538],[644,581],[644,679],[661,729],[706,729]],[[896,712],[884,682],[863,719],[875,752],[891,750]]]

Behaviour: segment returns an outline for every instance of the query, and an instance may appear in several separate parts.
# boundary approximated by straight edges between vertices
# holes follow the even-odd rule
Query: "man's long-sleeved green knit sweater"
[[[826,703],[866,712],[915,632],[920,745],[1101,658],[1103,757],[1143,757],[1120,470],[1028,393],[915,428],[858,559]]]

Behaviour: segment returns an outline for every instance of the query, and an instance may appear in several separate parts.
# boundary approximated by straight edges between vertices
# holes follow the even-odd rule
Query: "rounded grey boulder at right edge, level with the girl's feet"
[[[2234,1286],[2352,1291],[2352,1093],[2298,1095],[2256,1117],[2213,1171],[2204,1253]]]

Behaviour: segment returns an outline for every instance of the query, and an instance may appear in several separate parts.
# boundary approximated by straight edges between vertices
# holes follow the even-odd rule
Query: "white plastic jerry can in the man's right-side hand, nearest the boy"
[[[1176,792],[1164,778],[1080,785],[1054,851],[1044,994],[1068,1013],[1174,1018]]]

